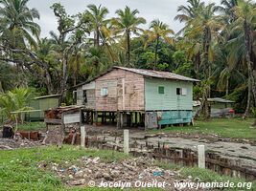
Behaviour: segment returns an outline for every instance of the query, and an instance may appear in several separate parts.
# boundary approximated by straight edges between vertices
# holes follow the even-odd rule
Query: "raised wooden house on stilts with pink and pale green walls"
[[[114,67],[79,85],[77,104],[94,114],[94,121],[101,114],[102,122],[110,118],[121,127],[190,123],[197,81],[168,72]]]

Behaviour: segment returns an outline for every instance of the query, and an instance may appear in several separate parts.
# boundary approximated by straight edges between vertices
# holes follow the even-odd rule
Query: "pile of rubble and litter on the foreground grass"
[[[154,180],[166,182],[166,187],[169,187],[167,190],[170,190],[169,184],[180,181],[178,172],[159,168],[155,165],[154,159],[143,157],[113,162],[105,162],[100,158],[82,157],[76,161],[76,164],[69,161],[62,164],[41,161],[38,168],[54,171],[63,182],[71,186],[87,186],[90,180],[93,180],[96,185],[100,185],[101,182],[118,181],[126,181],[134,185],[137,180],[143,182]]]

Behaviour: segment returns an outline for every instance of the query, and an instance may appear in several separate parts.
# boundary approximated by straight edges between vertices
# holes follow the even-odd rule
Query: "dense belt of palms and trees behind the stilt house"
[[[194,98],[209,117],[207,97],[237,102],[246,117],[256,106],[256,6],[250,0],[221,0],[220,5],[187,0],[177,8],[184,28],[147,21],[128,7],[108,17],[106,7],[88,5],[70,15],[60,3],[51,9],[58,33],[40,38],[39,12],[28,0],[0,1],[0,91],[34,87],[41,94],[61,94],[104,73],[113,65],[174,72],[198,78]],[[13,76],[12,76],[13,75]]]

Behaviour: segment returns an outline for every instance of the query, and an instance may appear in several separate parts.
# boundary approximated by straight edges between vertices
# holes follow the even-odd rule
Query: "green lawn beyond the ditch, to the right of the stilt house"
[[[210,121],[197,121],[195,126],[167,127],[162,130],[151,130],[150,133],[190,133],[217,134],[222,138],[246,138],[256,140],[256,129],[251,129],[253,118],[213,118]]]

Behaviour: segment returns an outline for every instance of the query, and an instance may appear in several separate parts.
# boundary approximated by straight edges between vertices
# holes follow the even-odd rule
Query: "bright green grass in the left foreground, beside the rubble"
[[[45,172],[37,168],[38,162],[42,160],[59,164],[70,161],[76,164],[79,162],[77,159],[82,156],[100,157],[105,161],[128,158],[125,154],[114,151],[81,150],[79,147],[68,145],[64,145],[62,149],[40,147],[1,151],[0,190],[84,190],[84,187],[68,188],[52,172]]]

